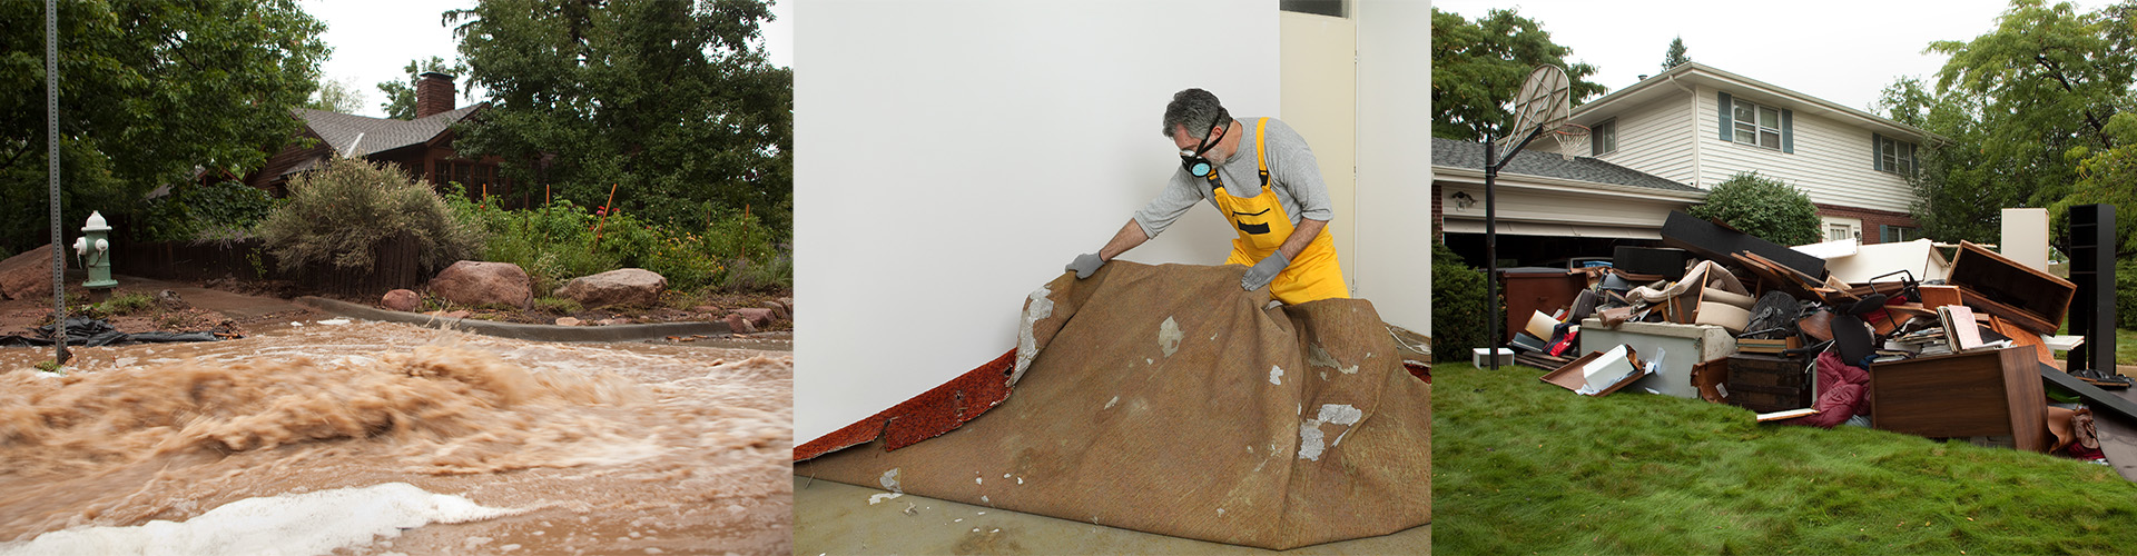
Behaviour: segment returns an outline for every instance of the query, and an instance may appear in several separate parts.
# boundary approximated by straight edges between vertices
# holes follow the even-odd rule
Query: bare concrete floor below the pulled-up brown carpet
[[[1094,526],[795,477],[795,556],[821,554],[1432,554],[1432,524],[1289,552]],[[908,513],[910,511],[910,513]]]

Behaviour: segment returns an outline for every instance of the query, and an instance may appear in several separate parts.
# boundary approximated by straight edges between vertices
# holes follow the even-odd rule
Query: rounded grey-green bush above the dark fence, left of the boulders
[[[259,233],[282,272],[312,263],[370,272],[372,246],[400,233],[415,235],[425,272],[474,259],[483,246],[483,231],[427,184],[389,165],[346,158],[291,180],[288,199]]]

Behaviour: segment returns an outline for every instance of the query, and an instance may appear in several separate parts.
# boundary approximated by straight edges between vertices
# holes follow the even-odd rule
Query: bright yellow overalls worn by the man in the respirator
[[[1267,148],[1263,148],[1269,118],[1254,122],[1254,163],[1261,173],[1259,195],[1233,197],[1225,192],[1225,182],[1216,177],[1216,171],[1205,177],[1210,180],[1210,190],[1216,192],[1212,195],[1216,207],[1239,231],[1239,240],[1231,240],[1231,257],[1225,259],[1229,265],[1254,265],[1276,254],[1284,237],[1291,237],[1291,214],[1284,214],[1284,203],[1276,199],[1276,190],[1269,190],[1269,160]],[[1291,257],[1291,265],[1276,274],[1276,280],[1269,280],[1269,293],[1291,306],[1351,297],[1351,287],[1342,282],[1342,267],[1336,265],[1336,240],[1329,240],[1327,227],[1299,250],[1299,257]]]

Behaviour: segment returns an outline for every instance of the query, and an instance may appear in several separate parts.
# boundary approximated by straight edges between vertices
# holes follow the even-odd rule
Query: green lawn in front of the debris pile
[[[2105,466],[1541,374],[1432,368],[1434,552],[2137,554],[2137,483]]]

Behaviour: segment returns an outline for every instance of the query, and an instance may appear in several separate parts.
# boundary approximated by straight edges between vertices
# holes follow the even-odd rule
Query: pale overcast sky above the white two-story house
[[[2103,2],[2077,2],[2079,11]],[[1596,66],[1588,81],[1616,92],[1656,75],[1669,38],[1684,36],[1693,62],[1870,111],[1902,75],[1934,79],[1932,41],[1972,41],[2009,9],[1998,0],[1795,0],[1795,2],[1601,2],[1601,0],[1432,0],[1475,21],[1517,9]],[[1590,98],[1592,101],[1592,98]]]

